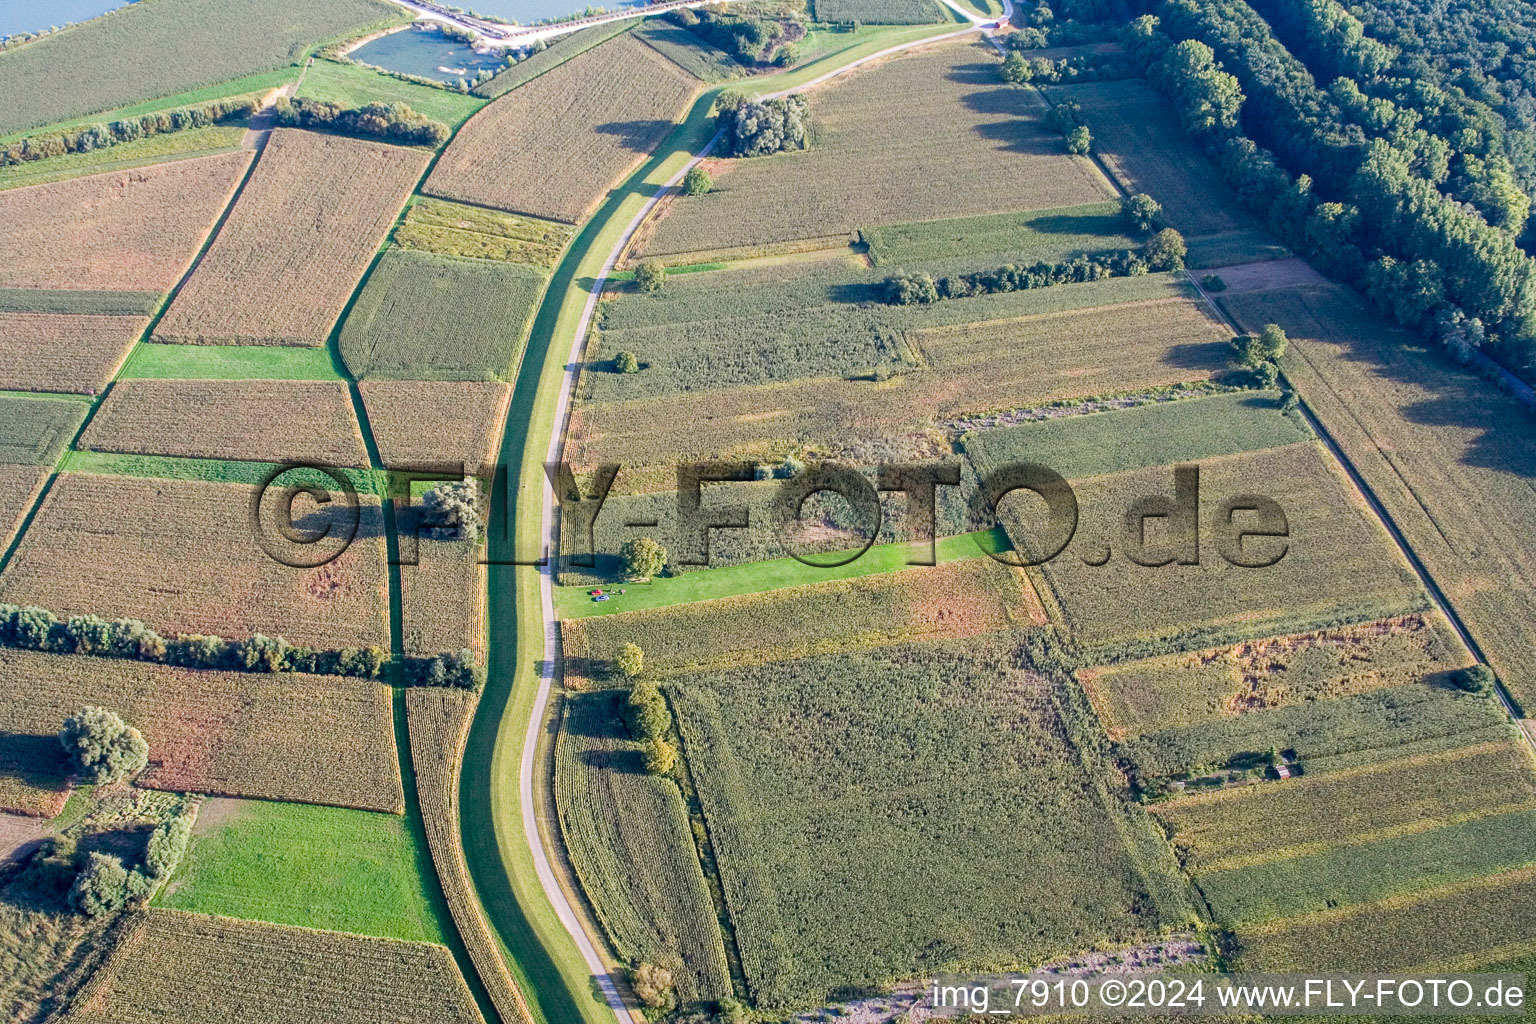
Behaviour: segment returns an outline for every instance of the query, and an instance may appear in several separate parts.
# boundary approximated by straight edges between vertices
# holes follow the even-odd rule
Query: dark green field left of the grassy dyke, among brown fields
[[[544,295],[542,269],[390,249],[341,329],[358,378],[511,378]]]

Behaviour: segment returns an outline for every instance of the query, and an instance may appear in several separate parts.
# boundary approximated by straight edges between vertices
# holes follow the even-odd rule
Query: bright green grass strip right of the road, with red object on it
[[[952,537],[940,537],[934,543],[934,560],[958,562],[962,559],[985,557],[998,551],[1011,551],[1012,545],[1000,527],[963,533]],[[845,553],[845,554],[851,554]],[[833,560],[834,556],[819,556]],[[805,586],[808,583],[829,583],[833,580],[856,579],[859,576],[876,576],[880,573],[897,573],[914,568],[912,559],[926,559],[925,543],[879,543],[856,557],[852,562],[839,567],[806,565],[799,559],[773,559],[770,562],[750,562],[746,565],[722,565],[716,570],[699,570],[697,573],[682,573],[654,579],[650,583],[621,583],[624,596],[611,600],[593,600],[587,591],[593,586],[558,586],[554,588],[554,614],[561,619],[590,619],[593,616],[611,616],[622,611],[647,611],[651,608],[668,608],[671,605],[691,605],[700,600],[717,600],[720,597],[739,597],[742,594],[762,594],[783,590],[786,586]],[[611,586],[602,586],[610,593]]]

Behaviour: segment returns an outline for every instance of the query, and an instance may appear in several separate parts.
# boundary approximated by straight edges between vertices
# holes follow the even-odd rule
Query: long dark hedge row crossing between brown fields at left
[[[184,668],[243,672],[310,672],[379,679],[390,663],[379,646],[315,649],[283,637],[253,634],[240,640],[181,633],[170,639],[138,619],[71,616],[58,619],[46,608],[0,605],[0,645],[51,654],[89,654]],[[435,657],[410,657],[406,679],[416,686],[478,688],[482,669],[468,649]]]

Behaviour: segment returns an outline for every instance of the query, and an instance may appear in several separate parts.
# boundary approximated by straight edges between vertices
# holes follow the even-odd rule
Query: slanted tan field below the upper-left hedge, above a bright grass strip
[[[155,339],[326,344],[430,157],[341,135],[272,132]]]

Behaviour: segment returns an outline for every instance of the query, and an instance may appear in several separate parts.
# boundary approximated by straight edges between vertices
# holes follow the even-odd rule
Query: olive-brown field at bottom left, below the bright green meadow
[[[482,1024],[442,946],[154,909],[69,1015],[80,1024]]]

